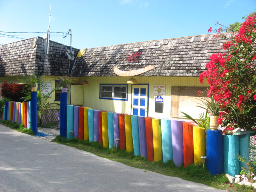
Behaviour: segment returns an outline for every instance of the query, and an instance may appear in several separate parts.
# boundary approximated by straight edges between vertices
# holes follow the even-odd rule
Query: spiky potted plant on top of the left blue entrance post
[[[40,75],[34,71],[28,72],[26,75],[21,75],[17,78],[21,83],[31,86],[32,92],[36,92],[36,84],[40,83]]]

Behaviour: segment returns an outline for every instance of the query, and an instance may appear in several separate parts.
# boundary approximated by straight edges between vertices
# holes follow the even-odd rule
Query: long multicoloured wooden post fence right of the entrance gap
[[[15,106],[7,105],[4,114],[11,114],[12,108]],[[15,116],[19,120],[19,116]],[[80,128],[80,125],[84,126]],[[205,141],[205,129],[173,119],[130,116],[68,105],[67,138],[70,131],[74,132],[74,137],[102,143],[104,148],[118,147],[149,161],[173,160],[177,166],[188,166],[202,164],[201,157],[206,156],[206,165],[212,174],[221,174],[224,170],[234,176],[242,165],[236,154],[242,152],[241,155],[248,156],[248,134],[222,135],[221,131],[207,130]]]

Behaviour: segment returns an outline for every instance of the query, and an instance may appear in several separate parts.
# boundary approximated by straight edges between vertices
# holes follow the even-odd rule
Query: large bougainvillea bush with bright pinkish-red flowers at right
[[[199,76],[210,85],[208,96],[220,102],[228,114],[220,114],[222,126],[256,127],[256,13],[248,16],[238,33],[222,45],[223,54],[212,54],[207,70]],[[229,110],[234,108],[235,112]]]

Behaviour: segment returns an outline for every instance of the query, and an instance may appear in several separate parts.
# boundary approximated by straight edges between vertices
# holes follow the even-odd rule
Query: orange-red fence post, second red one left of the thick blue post
[[[154,161],[152,118],[151,117],[145,117],[144,120],[145,120],[145,129],[146,129],[146,142],[147,142],[148,160],[149,161]]]

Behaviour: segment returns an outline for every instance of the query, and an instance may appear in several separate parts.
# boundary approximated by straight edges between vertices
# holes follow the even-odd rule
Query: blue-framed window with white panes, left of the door
[[[127,84],[100,84],[100,99],[128,100]]]

